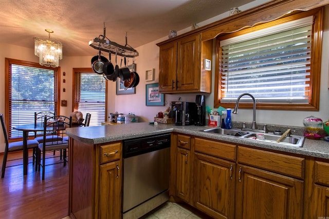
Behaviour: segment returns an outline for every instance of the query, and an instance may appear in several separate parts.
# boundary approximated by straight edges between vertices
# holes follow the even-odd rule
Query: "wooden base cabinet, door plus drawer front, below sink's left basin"
[[[195,138],[194,147],[194,206],[214,218],[233,219],[236,146]]]

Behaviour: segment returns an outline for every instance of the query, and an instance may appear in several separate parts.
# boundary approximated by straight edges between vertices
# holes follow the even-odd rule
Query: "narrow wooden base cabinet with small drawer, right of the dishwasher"
[[[176,155],[176,196],[187,203],[190,202],[191,185],[191,137],[177,135],[177,155]]]

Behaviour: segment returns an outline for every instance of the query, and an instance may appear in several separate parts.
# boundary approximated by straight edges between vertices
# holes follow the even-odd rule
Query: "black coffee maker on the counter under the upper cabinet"
[[[192,102],[171,102],[175,110],[175,126],[190,126],[196,120],[196,105]]]

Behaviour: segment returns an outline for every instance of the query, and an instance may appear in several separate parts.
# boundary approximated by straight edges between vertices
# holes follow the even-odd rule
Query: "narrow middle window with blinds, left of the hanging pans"
[[[86,113],[91,114],[89,126],[101,125],[106,121],[106,79],[91,68],[74,72],[74,110],[81,111],[84,118]]]

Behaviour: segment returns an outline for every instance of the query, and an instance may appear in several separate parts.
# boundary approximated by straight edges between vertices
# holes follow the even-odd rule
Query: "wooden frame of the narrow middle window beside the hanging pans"
[[[73,76],[72,76],[72,112],[77,109],[77,89],[78,89],[78,85],[77,85],[77,81],[76,81],[76,74],[79,73],[90,73],[90,74],[95,74],[95,72],[93,71],[92,68],[73,68]],[[104,121],[106,121],[106,115],[107,115],[107,88],[108,88],[108,81],[105,79],[105,116],[104,116]],[[92,117],[93,118],[93,113]]]

